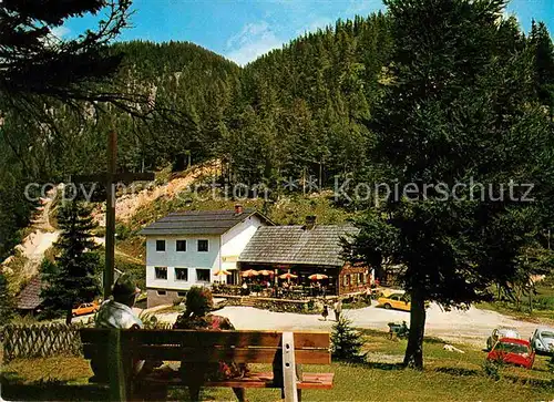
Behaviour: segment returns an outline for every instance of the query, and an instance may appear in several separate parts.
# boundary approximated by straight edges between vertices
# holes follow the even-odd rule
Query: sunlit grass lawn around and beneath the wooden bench
[[[443,342],[428,339],[424,343],[425,369],[422,372],[402,370],[406,340],[386,339],[384,332],[363,330],[368,362],[348,364],[334,362],[330,367],[305,367],[305,371],[335,372],[330,391],[304,391],[305,401],[550,401],[554,399],[554,374],[547,360],[537,357],[533,370],[505,367],[500,380],[488,377],[483,369],[485,352],[456,347],[465,353],[448,352]],[[270,371],[255,365],[254,370]],[[50,358],[13,361],[2,368],[9,383],[37,384],[44,382],[86,383],[92,375],[88,361],[80,358]],[[6,383],[4,383],[6,385]],[[279,390],[247,390],[250,402],[277,401]],[[60,394],[58,394],[59,398]],[[188,400],[186,390],[172,390],[172,399]],[[204,400],[234,400],[229,389],[206,389]]]

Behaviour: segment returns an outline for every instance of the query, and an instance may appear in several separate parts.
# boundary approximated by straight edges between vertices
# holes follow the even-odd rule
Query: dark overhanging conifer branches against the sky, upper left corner
[[[122,54],[107,52],[106,45],[126,27],[130,7],[131,0],[0,2],[0,94],[9,94],[8,104],[25,112],[24,106],[33,101],[29,95],[71,104],[119,100],[116,94],[98,93],[93,84],[121,63]],[[107,16],[98,29],[71,40],[55,35],[55,29],[68,19],[99,12]],[[22,104],[18,103],[20,96]]]

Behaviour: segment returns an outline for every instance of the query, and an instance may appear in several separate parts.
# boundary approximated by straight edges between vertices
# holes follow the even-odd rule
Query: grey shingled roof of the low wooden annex
[[[238,257],[243,262],[310,264],[342,266],[341,238],[359,233],[352,226],[325,225],[307,229],[305,226],[263,226]]]

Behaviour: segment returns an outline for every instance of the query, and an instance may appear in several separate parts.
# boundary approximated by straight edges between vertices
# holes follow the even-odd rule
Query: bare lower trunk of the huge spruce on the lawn
[[[410,293],[410,336],[404,354],[404,367],[423,370],[423,333],[425,331],[425,300],[419,289]]]

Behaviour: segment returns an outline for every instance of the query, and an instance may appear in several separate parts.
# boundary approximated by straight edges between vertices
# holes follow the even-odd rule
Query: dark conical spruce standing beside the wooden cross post
[[[92,252],[98,248],[92,229],[95,223],[90,216],[90,208],[80,202],[70,202],[58,213],[58,224],[62,229],[55,246],[60,255],[55,258],[55,270],[43,272],[48,287],[42,289],[44,315],[55,317],[65,315],[71,322],[71,309],[81,302],[90,302],[100,295],[95,272],[100,259]]]

